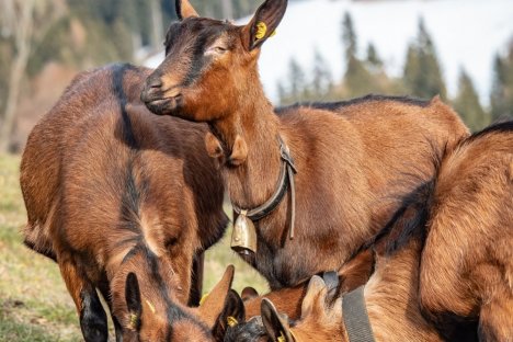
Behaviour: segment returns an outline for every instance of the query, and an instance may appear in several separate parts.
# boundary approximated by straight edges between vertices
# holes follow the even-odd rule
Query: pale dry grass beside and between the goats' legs
[[[0,341],[82,341],[75,305],[57,265],[22,243],[19,231],[26,216],[19,166],[20,157],[0,155]],[[228,264],[236,265],[237,290],[248,285],[265,290],[265,282],[231,252],[230,229],[207,252],[205,290]]]

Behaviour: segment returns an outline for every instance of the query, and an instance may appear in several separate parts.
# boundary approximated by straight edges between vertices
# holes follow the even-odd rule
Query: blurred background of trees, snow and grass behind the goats
[[[263,0],[191,2],[202,15],[243,24]],[[262,48],[261,78],[276,105],[440,94],[477,130],[513,117],[512,19],[512,0],[289,0]],[[174,0],[0,0],[0,341],[80,341],[58,269],[18,233],[30,130],[77,72],[113,61],[158,66],[173,20]],[[206,289],[229,263],[236,288],[266,288],[226,239],[207,258]]]

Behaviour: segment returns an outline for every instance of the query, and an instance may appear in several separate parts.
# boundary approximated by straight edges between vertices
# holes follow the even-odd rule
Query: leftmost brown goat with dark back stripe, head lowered
[[[163,333],[166,298],[187,301],[195,255],[227,225],[206,127],[149,115],[139,94],[150,72],[113,65],[79,75],[23,153],[25,243],[59,264],[86,341],[107,339],[95,288],[118,341],[135,321],[141,340]],[[155,312],[142,320],[133,320],[126,303],[127,284],[136,283]]]

